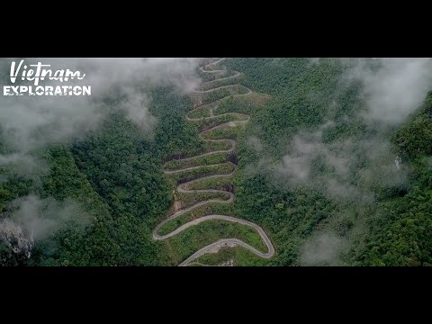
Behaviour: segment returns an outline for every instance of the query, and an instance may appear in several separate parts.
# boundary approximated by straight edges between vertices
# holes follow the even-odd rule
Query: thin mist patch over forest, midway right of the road
[[[348,138],[325,143],[323,130],[331,125],[294,136],[288,154],[275,168],[275,179],[290,188],[306,186],[347,202],[373,202],[374,189],[406,182],[407,170],[396,166],[388,141]]]

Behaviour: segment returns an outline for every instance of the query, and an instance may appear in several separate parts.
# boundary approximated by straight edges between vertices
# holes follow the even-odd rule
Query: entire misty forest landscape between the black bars
[[[21,59],[92,95],[0,95],[0,265],[432,265],[431,58]]]

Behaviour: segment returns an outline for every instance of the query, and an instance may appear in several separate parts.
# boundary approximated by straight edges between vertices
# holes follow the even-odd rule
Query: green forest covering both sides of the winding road
[[[218,202],[166,221],[159,234],[230,215],[264,229],[275,255],[223,247],[190,266],[431,266],[432,91],[406,121],[383,126],[365,118],[364,85],[344,78],[355,65],[356,58],[227,58],[218,67],[232,79],[196,70],[210,81],[202,91],[220,90],[148,88],[152,136],[112,110],[84,138],[31,151],[42,172],[0,164],[0,221],[19,220],[16,202],[30,195],[38,197],[34,213],[55,229],[35,236],[31,257],[0,239],[0,266],[177,266],[220,238],[266,250],[255,230],[224,220],[153,239],[173,203],[184,209],[209,199]],[[14,153],[0,135],[0,154]],[[175,191],[186,182],[227,193]],[[229,193],[233,202],[223,202]],[[60,214],[72,216],[59,221]]]

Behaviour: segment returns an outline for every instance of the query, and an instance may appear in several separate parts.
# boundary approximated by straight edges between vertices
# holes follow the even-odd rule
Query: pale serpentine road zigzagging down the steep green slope
[[[217,67],[218,64],[220,64],[220,62],[223,60],[223,58],[220,58],[219,60],[209,63],[207,65],[204,65],[201,67],[202,72],[204,73],[210,73],[210,74],[217,74],[217,73],[221,73],[224,72],[224,70],[218,70],[215,69]],[[201,155],[197,155],[194,157],[185,157],[185,158],[180,158],[180,159],[175,159],[174,161],[176,162],[177,166],[175,169],[165,169],[164,173],[166,175],[178,175],[178,177],[176,178],[176,182],[178,183],[178,185],[176,186],[176,192],[177,193],[189,193],[189,194],[194,194],[194,193],[228,193],[229,199],[228,200],[221,200],[221,199],[207,199],[207,200],[203,200],[201,202],[196,202],[194,203],[192,206],[189,206],[187,208],[181,208],[176,210],[172,215],[170,215],[166,220],[163,220],[162,222],[160,222],[157,227],[153,230],[153,238],[157,239],[157,240],[163,240],[166,238],[171,238],[173,236],[175,236],[176,234],[180,233],[181,231],[183,231],[184,229],[188,229],[191,226],[196,226],[198,224],[200,224],[202,221],[206,221],[206,220],[225,220],[225,221],[229,221],[229,222],[234,222],[234,223],[238,223],[244,226],[247,226],[251,229],[255,229],[257,231],[257,233],[259,234],[259,236],[263,239],[264,243],[266,244],[266,253],[263,253],[259,250],[257,250],[257,248],[250,246],[249,244],[245,243],[244,241],[238,239],[238,238],[221,238],[218,241],[211,243],[209,245],[207,245],[206,247],[202,247],[201,249],[199,249],[197,252],[193,253],[192,256],[188,257],[186,260],[184,260],[180,266],[187,266],[191,261],[193,261],[196,258],[202,257],[202,255],[208,253],[209,251],[218,251],[220,249],[220,247],[235,247],[235,246],[241,246],[241,247],[245,247],[247,248],[249,251],[251,251],[252,253],[256,254],[259,257],[264,257],[264,258],[269,258],[269,257],[273,257],[273,255],[275,254],[275,248],[272,245],[272,242],[270,241],[270,238],[267,237],[266,232],[261,229],[261,227],[259,227],[257,224],[251,222],[251,221],[247,221],[247,220],[241,220],[241,219],[237,219],[231,216],[227,216],[227,215],[216,215],[216,214],[209,214],[209,215],[205,215],[205,216],[201,216],[200,218],[196,218],[193,220],[189,220],[187,222],[185,222],[184,224],[182,224],[180,227],[178,227],[177,229],[173,229],[172,231],[170,231],[169,233],[160,235],[159,229],[161,229],[162,227],[164,227],[164,225],[166,225],[167,222],[170,222],[172,220],[175,220],[181,216],[183,216],[184,214],[187,213],[192,213],[194,209],[201,207],[203,205],[206,204],[214,204],[214,203],[231,203],[234,200],[234,193],[232,193],[231,191],[225,191],[225,190],[218,190],[218,189],[188,189],[189,186],[191,184],[197,184],[199,182],[202,182],[202,180],[207,180],[207,179],[217,179],[220,177],[231,177],[232,175],[234,175],[237,166],[235,164],[233,164],[232,162],[222,162],[219,164],[209,164],[209,162],[207,162],[207,160],[205,160],[204,158],[208,158],[208,161],[211,160],[211,157],[214,156],[218,156],[220,154],[223,154],[224,157],[231,157],[232,152],[235,149],[236,146],[236,141],[234,139],[211,139],[211,135],[206,136],[206,134],[211,134],[211,133],[217,133],[218,130],[227,130],[227,128],[231,128],[231,127],[236,127],[238,124],[245,124],[247,123],[247,121],[249,121],[249,116],[247,114],[241,114],[241,113],[235,113],[235,112],[226,112],[226,113],[221,113],[221,114],[214,114],[214,111],[217,110],[218,108],[218,102],[222,101],[223,99],[227,98],[227,97],[234,97],[234,96],[246,96],[249,94],[252,94],[252,91],[250,89],[243,89],[241,87],[238,86],[238,84],[234,84],[234,85],[221,85],[221,84],[225,84],[227,81],[229,82],[235,82],[235,78],[238,77],[240,74],[237,71],[234,71],[233,76],[226,76],[226,77],[217,77],[214,80],[205,82],[202,84],[202,88],[206,88],[207,90],[202,90],[202,91],[195,91],[194,94],[198,94],[198,96],[195,96],[195,101],[198,101],[197,104],[195,104],[195,108],[193,109],[193,111],[191,111],[188,115],[186,115],[186,120],[187,121],[205,121],[205,122],[211,122],[211,121],[216,121],[219,122],[219,124],[217,124],[216,126],[210,126],[210,127],[206,127],[205,130],[202,130],[202,132],[199,134],[200,139],[202,139],[205,142],[208,143],[216,143],[216,144],[222,144],[224,146],[226,146],[226,149],[216,149],[216,150],[212,150],[211,152],[207,152],[207,153],[203,153]],[[238,88],[238,89],[236,89]],[[234,90],[233,90],[234,89]],[[223,96],[223,92],[224,91],[228,91],[228,95]],[[243,93],[237,93],[237,91],[240,92],[245,92]],[[221,95],[219,95],[214,101],[211,101],[211,99],[208,99],[208,97],[206,96],[207,94],[218,94],[218,93],[222,93]],[[221,96],[221,97],[220,97]],[[204,104],[202,104],[202,102],[205,102]],[[216,103],[216,104],[215,104]],[[190,117],[193,116],[194,113],[196,112],[208,112],[210,115],[208,117]],[[224,122],[221,122],[224,121]],[[204,157],[204,158],[203,158]],[[167,164],[169,164],[172,161],[167,162]],[[207,162],[207,163],[206,163]],[[211,162],[210,162],[211,163]],[[232,166],[232,171],[230,173],[225,173],[225,174],[220,174],[217,175],[218,173],[218,167],[220,166],[226,166],[227,163],[229,163]],[[196,164],[196,166],[195,166]],[[193,165],[193,166],[189,166],[189,165]],[[183,166],[183,167],[182,167]],[[193,171],[193,170],[197,170],[198,172],[200,172],[202,170],[202,166],[207,166],[210,167],[211,170],[211,175],[201,175],[199,173],[193,175],[193,179],[190,180],[187,176],[188,176],[188,171]],[[215,175],[216,174],[216,175]],[[182,177],[183,175],[183,177]],[[175,202],[175,204],[178,204],[177,202]],[[187,244],[187,242],[184,242],[184,244]]]

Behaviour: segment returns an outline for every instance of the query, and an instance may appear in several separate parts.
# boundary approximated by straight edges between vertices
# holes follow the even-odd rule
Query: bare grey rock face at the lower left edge
[[[15,255],[25,258],[31,257],[33,238],[26,237],[23,228],[13,220],[0,220],[0,240],[2,240],[7,247],[10,247]]]

